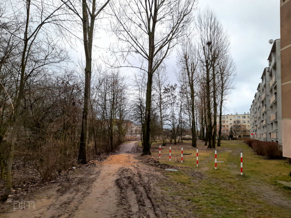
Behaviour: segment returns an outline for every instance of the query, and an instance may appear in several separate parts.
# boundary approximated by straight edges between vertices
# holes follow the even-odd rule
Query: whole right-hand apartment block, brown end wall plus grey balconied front
[[[280,0],[280,35],[274,41],[250,108],[254,139],[278,142],[291,158],[291,0]]]

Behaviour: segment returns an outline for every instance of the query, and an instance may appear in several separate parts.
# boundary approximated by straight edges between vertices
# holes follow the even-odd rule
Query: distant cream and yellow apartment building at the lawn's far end
[[[219,123],[219,119],[217,121]],[[250,136],[250,113],[244,114],[226,114],[222,115],[221,131],[223,135],[229,135],[232,128],[234,137]],[[217,126],[217,130],[219,126]]]

